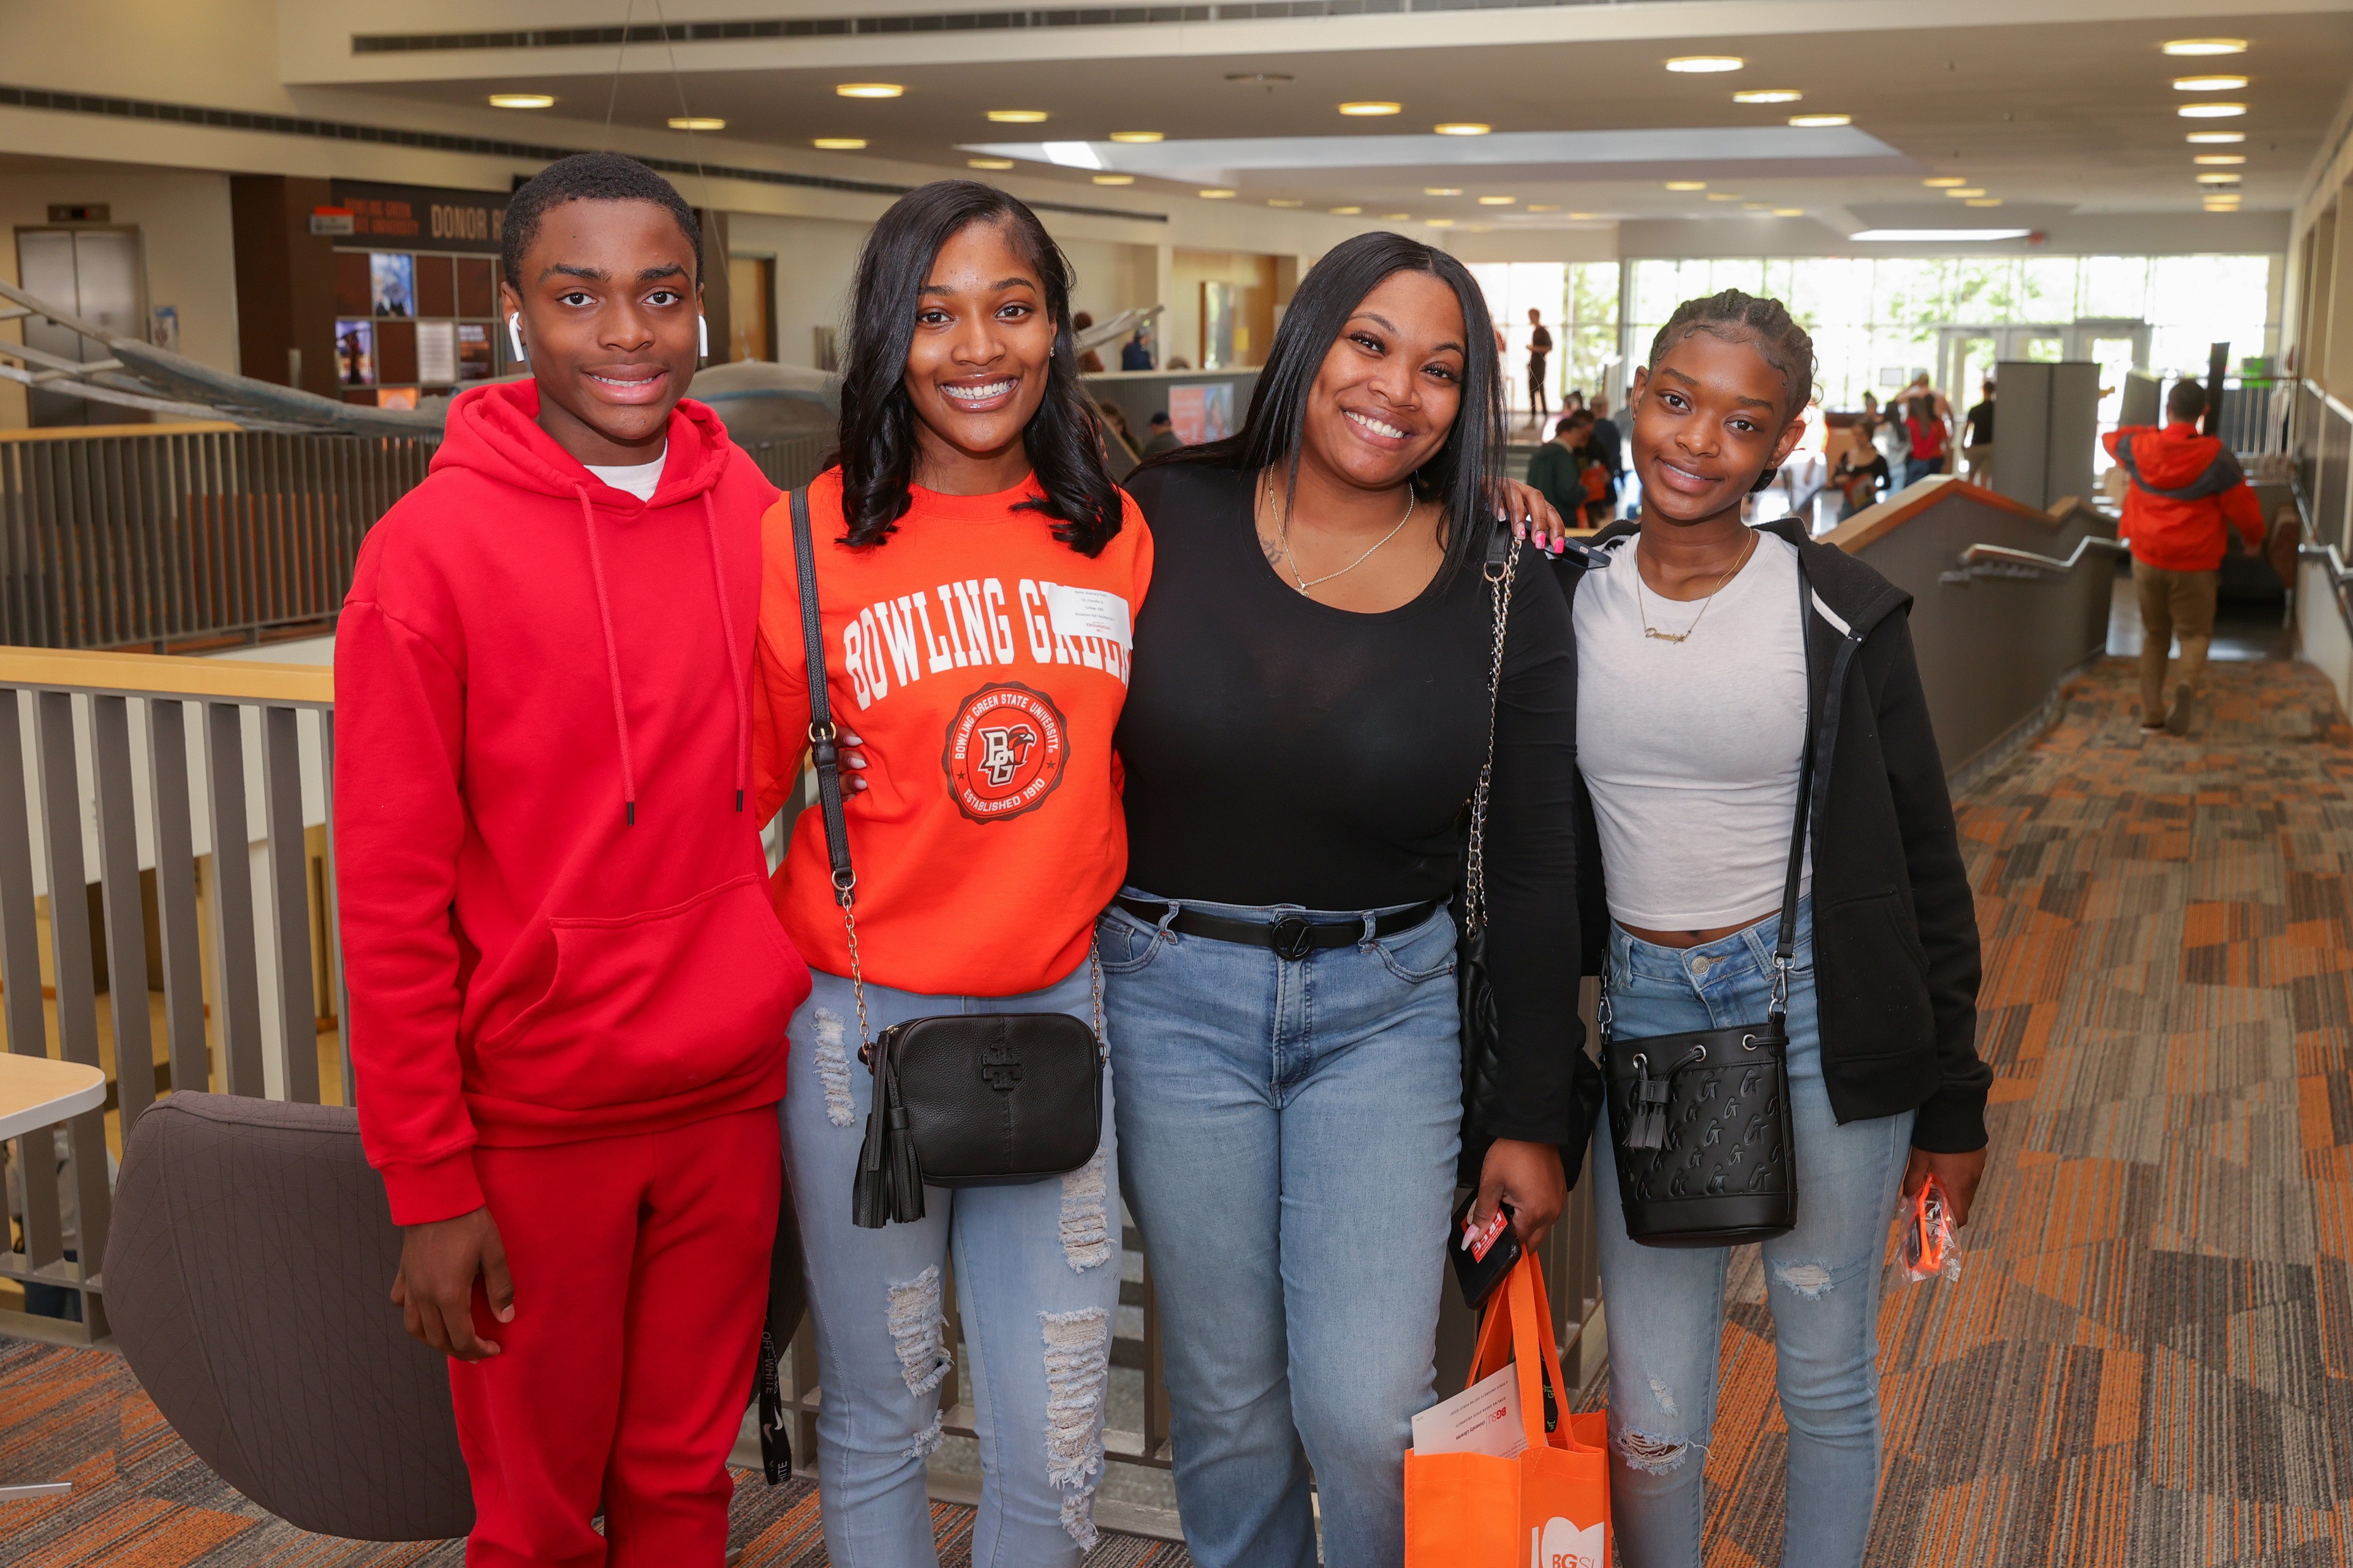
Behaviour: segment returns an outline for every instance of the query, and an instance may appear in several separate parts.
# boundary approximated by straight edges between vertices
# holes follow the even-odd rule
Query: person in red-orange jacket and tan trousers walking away
[[[2141,733],[2186,736],[2214,639],[2214,592],[2235,527],[2247,552],[2264,548],[2264,505],[2238,456],[2198,435],[2205,388],[2191,378],[2165,395],[2165,428],[2125,425],[2101,437],[2125,470],[2125,520],[2115,534],[2132,545],[2132,585],[2141,599]],[[2165,708],[2165,661],[2181,637],[2181,679]]]

